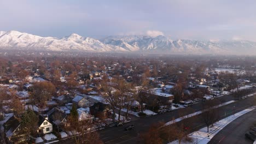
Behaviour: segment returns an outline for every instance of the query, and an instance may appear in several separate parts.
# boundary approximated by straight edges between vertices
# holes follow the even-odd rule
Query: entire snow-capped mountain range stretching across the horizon
[[[159,52],[159,53],[216,53],[251,54],[256,50],[253,41],[172,40],[164,35],[111,36],[101,40],[71,34],[64,38],[40,37],[18,31],[0,31],[1,49],[87,51],[87,52]]]

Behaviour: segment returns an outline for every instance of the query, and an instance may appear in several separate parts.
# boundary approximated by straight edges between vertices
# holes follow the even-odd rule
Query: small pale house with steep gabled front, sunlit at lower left
[[[53,124],[48,121],[48,117],[44,117],[42,115],[39,116],[38,121],[38,130],[39,134],[48,134],[53,132]]]

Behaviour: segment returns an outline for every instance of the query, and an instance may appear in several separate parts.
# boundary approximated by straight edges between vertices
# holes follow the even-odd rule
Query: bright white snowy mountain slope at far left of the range
[[[78,34],[71,34],[68,37],[58,39],[53,37],[39,37],[28,33],[17,31],[0,32],[0,47],[15,47],[19,49],[44,49],[54,51],[114,51],[101,41],[83,38]]]

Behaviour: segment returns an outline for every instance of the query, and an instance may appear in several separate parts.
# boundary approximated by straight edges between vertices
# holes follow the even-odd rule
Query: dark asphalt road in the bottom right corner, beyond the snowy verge
[[[256,110],[246,113],[238,117],[235,121],[226,125],[226,127],[219,131],[217,135],[209,142],[210,144],[216,143],[243,143],[251,144],[252,141],[245,137],[245,133],[256,122]]]

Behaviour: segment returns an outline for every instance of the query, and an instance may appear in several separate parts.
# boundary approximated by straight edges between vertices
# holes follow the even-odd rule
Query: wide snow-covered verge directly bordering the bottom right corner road
[[[191,137],[193,142],[182,141],[182,143],[184,143],[184,144],[192,144],[192,143],[206,144],[209,141],[211,141],[211,139],[214,135],[216,135],[217,133],[219,133],[220,130],[222,130],[224,127],[226,127],[226,125],[228,125],[229,123],[234,121],[236,118],[244,115],[245,113],[254,110],[255,108],[256,108],[256,106],[252,106],[246,110],[235,113],[235,116],[232,115],[232,116],[229,116],[229,117],[226,117],[226,118],[220,120],[219,122],[214,123],[213,127],[209,128],[210,133],[207,133],[207,127],[204,127],[198,131],[195,131],[195,132],[189,134],[190,135],[189,137]],[[177,144],[177,143],[178,143],[178,140],[173,141],[169,144]]]

